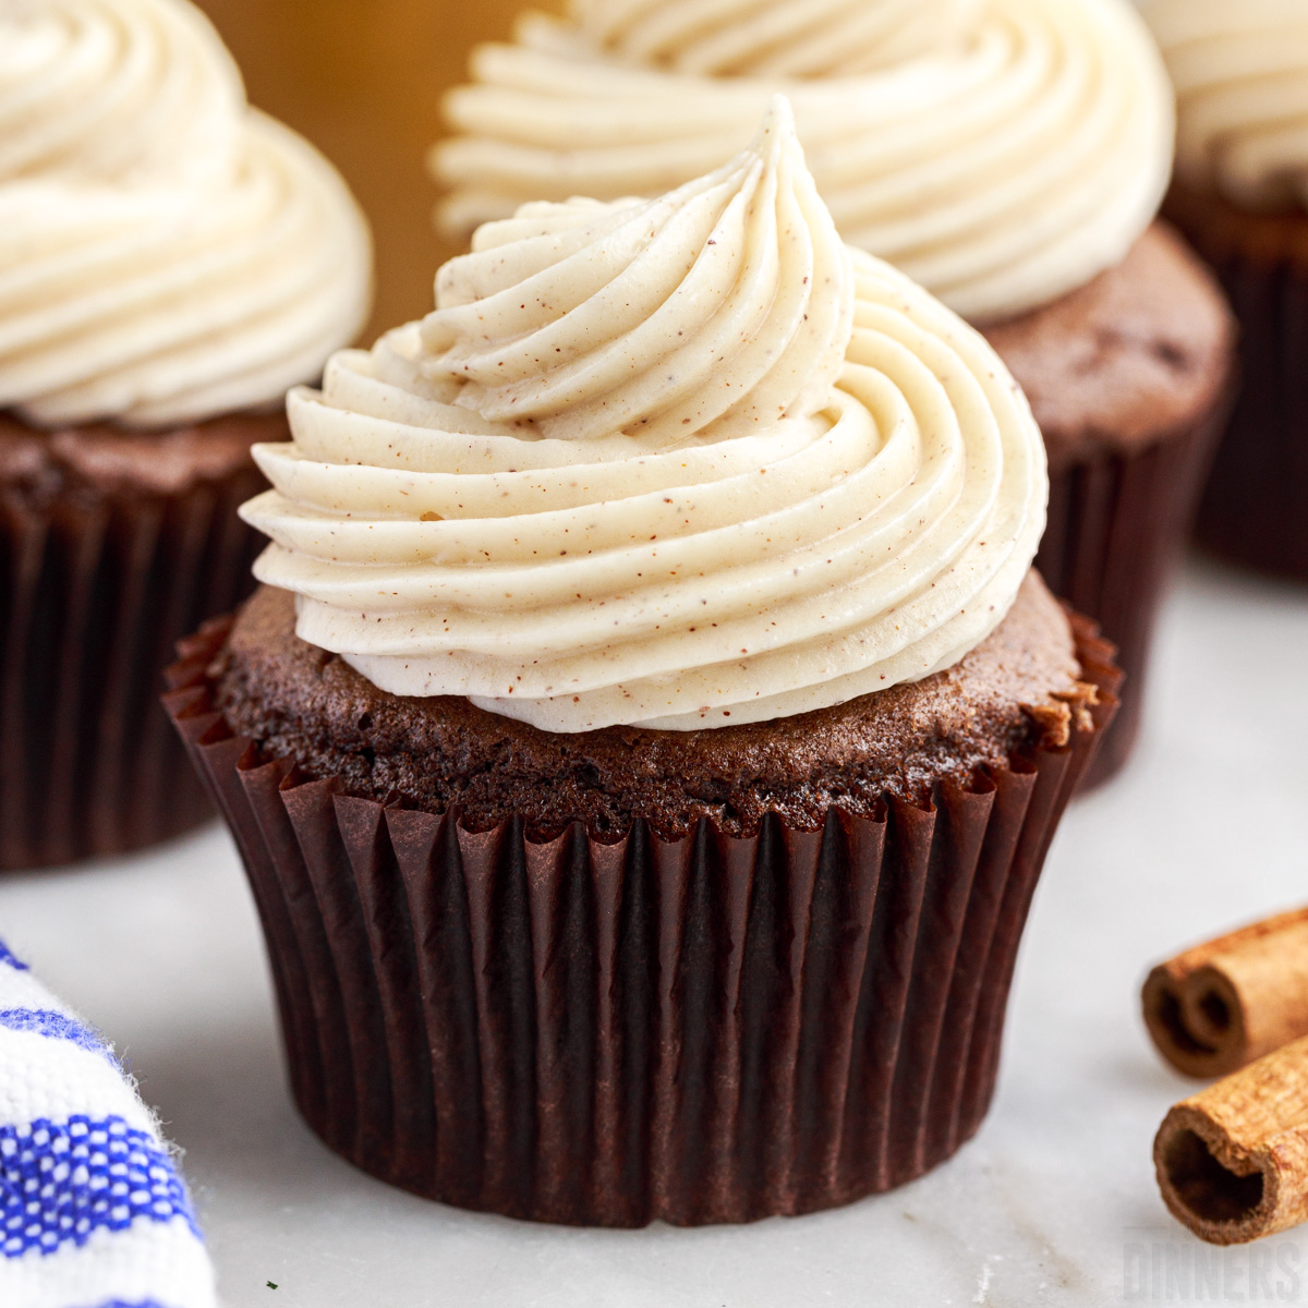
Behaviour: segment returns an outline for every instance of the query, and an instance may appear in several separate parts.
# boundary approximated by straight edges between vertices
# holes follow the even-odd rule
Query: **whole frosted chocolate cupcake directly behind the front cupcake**
[[[653,195],[793,99],[850,243],[991,336],[1049,449],[1039,566],[1121,649],[1134,742],[1165,579],[1227,395],[1213,280],[1155,221],[1173,97],[1126,0],[572,0],[481,47],[433,154],[449,230],[525,200]]]

